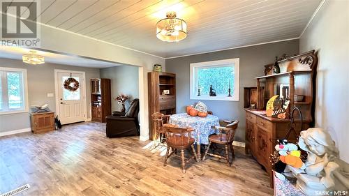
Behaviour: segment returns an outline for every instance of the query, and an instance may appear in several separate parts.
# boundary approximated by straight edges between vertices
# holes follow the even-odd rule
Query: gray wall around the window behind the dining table
[[[202,100],[222,121],[239,119],[239,131],[235,140],[245,140],[244,87],[256,86],[253,77],[264,75],[264,66],[273,63],[275,56],[298,54],[299,40],[288,40],[233,50],[224,50],[206,54],[166,59],[166,72],[176,73],[177,113],[185,112],[186,105],[193,105],[198,100],[191,100],[189,95],[190,63],[240,58],[239,101]]]

